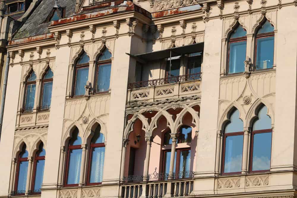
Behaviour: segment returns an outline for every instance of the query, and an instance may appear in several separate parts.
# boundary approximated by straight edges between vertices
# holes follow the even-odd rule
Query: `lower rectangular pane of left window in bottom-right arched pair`
[[[241,172],[243,135],[227,136],[225,142],[224,172]]]

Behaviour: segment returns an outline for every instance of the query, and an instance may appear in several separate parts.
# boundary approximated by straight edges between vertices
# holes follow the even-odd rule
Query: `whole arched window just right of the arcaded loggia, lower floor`
[[[223,174],[241,173],[243,151],[243,122],[239,118],[239,111],[233,110],[230,122],[226,125],[223,142]]]

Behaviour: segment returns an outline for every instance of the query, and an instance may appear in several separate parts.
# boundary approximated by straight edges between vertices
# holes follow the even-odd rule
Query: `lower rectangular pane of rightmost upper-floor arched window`
[[[268,69],[273,66],[274,36],[257,39],[256,69]]]

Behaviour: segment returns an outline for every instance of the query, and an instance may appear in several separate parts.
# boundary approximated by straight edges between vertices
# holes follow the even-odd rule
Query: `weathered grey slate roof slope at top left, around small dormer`
[[[60,0],[58,5],[65,7],[65,17],[69,17],[74,14],[76,0]],[[55,0],[42,0],[40,4],[35,8],[31,16],[26,20],[22,27],[14,34],[12,40],[17,40],[26,37],[33,37],[40,34],[50,33],[48,30],[48,23],[42,23],[48,17],[48,14],[53,9]]]

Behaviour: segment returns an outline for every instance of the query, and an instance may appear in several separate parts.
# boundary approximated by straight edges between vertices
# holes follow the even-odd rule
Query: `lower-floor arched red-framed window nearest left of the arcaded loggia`
[[[100,133],[100,130],[101,127],[98,125],[91,140],[88,185],[94,185],[102,182],[105,155],[105,137],[102,133]]]

